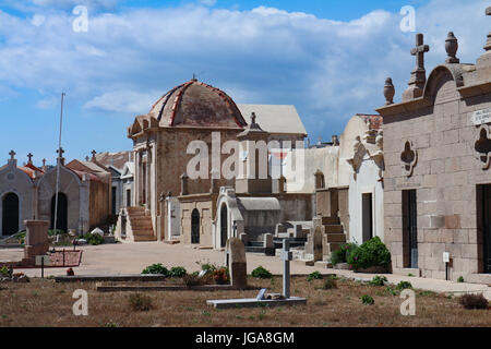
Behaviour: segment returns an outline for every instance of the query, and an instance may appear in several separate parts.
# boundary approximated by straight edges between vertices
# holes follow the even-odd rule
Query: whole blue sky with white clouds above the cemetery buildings
[[[61,92],[69,160],[130,149],[134,116],[193,73],[236,103],[295,105],[312,142],[331,139],[384,104],[385,77],[400,99],[415,67],[406,5],[430,45],[427,74],[448,31],[462,62],[482,53],[484,0],[0,0],[0,160],[13,148],[53,161]]]

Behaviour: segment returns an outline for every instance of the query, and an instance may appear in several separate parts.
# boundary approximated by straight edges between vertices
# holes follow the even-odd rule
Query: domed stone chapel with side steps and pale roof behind
[[[235,181],[224,176],[212,180],[211,174],[207,179],[190,179],[187,167],[196,154],[188,154],[188,146],[193,141],[207,145],[209,173],[214,168],[213,149],[216,154],[227,141],[239,141],[238,135],[254,123],[252,115],[266,133],[267,142],[277,141],[279,148],[290,147],[287,141],[291,147],[297,141],[300,141],[297,145],[303,144],[307,137],[294,106],[237,105],[225,92],[194,77],[167,92],[147,115],[135,117],[128,129],[135,159],[135,205],[122,210],[117,234],[127,241],[182,238],[184,243],[212,245],[219,188],[235,189]],[[220,154],[220,164],[230,155],[239,156]],[[272,182],[270,194],[278,185],[277,180]],[[197,239],[191,239],[192,229],[200,231]]]

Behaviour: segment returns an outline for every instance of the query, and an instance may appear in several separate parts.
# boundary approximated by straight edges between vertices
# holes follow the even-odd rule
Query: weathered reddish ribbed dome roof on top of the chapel
[[[244,128],[246,120],[223,91],[193,79],[170,89],[152,107],[159,127]]]

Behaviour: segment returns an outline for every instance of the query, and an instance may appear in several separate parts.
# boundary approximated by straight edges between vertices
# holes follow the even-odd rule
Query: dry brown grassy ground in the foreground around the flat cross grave
[[[325,278],[324,278],[325,280]],[[32,279],[29,284],[0,284],[0,326],[35,327],[195,327],[195,326],[491,326],[489,310],[465,310],[456,297],[416,290],[416,315],[403,316],[398,294],[384,287],[339,278],[336,289],[323,289],[324,280],[307,281],[294,277],[291,293],[308,299],[307,306],[215,310],[206,300],[252,298],[258,291],[179,291],[142,293],[149,297],[152,309],[133,310],[131,292],[103,293],[96,284],[56,284]],[[280,292],[282,278],[249,278],[250,286]],[[152,284],[145,284],[152,285]],[[88,315],[75,316],[72,298],[75,289],[88,292]],[[373,297],[373,305],[363,305],[363,294]]]

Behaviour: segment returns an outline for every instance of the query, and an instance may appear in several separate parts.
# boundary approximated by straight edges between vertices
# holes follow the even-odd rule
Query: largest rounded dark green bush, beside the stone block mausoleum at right
[[[348,253],[346,258],[354,269],[364,269],[372,266],[387,267],[391,263],[391,252],[382,240],[375,237]]]

